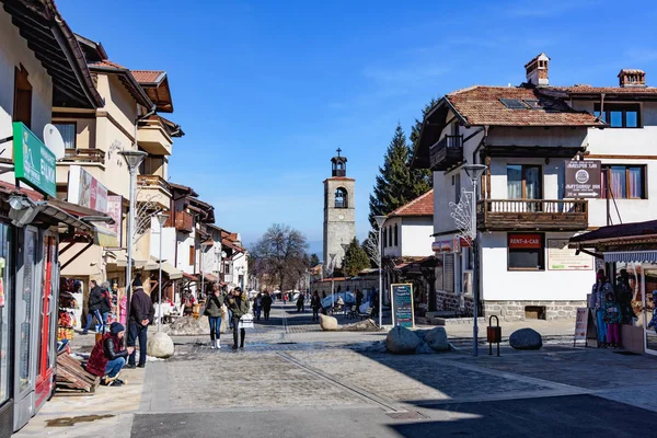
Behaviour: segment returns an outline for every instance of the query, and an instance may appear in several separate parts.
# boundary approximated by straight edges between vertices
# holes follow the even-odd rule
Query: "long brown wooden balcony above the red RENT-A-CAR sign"
[[[477,228],[485,231],[580,231],[588,228],[586,200],[483,199]]]

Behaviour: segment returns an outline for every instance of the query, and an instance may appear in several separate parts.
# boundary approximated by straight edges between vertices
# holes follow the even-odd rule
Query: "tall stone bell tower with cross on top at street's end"
[[[343,243],[356,237],[356,180],[347,177],[347,158],[331,159],[331,177],[324,181],[324,266],[328,267],[335,254],[334,266],[342,267],[345,256]]]

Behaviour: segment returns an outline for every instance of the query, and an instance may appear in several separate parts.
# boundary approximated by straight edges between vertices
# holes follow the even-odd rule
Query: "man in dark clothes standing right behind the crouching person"
[[[139,339],[139,368],[146,367],[146,343],[148,335],[148,326],[153,321],[154,309],[153,302],[143,290],[141,279],[135,278],[132,283],[134,293],[130,298],[130,319],[128,321],[128,347],[135,347],[135,343]],[[128,358],[126,368],[135,368],[136,351],[132,349]]]

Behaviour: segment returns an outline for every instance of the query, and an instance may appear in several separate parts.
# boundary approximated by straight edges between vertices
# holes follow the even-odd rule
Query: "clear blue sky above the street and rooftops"
[[[172,181],[193,186],[247,243],[274,222],[321,241],[322,181],[337,147],[357,180],[362,238],[396,124],[408,134],[426,102],[454,89],[519,84],[541,51],[552,84],[615,85],[621,68],[641,68],[657,85],[652,1],[57,3],[113,61],[169,72],[171,118],[186,132]]]

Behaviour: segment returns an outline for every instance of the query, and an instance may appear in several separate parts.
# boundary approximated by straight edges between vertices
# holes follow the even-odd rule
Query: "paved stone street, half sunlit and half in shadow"
[[[319,332],[308,313],[275,308],[244,350],[229,348],[229,334],[220,350],[205,337],[176,337],[172,359],[125,371],[128,387],[56,396],[16,436],[41,437],[45,427],[54,437],[216,437],[217,428],[229,437],[508,437],[567,426],[565,436],[629,437],[648,436],[657,412],[653,357],[569,343],[503,348],[499,358],[485,349],[475,358],[465,343],[441,355],[393,356],[381,350],[383,338]],[[53,425],[82,416],[90,417],[74,427]]]

